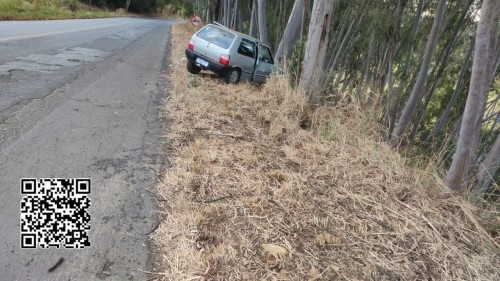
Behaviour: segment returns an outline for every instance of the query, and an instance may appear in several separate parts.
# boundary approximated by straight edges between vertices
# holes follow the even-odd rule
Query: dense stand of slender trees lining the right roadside
[[[349,102],[477,206],[500,198],[500,1],[170,0],[259,38],[312,107]]]

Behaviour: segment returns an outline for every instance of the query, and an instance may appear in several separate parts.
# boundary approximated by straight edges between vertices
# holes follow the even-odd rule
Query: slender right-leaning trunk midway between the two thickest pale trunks
[[[417,81],[413,86],[410,94],[410,98],[406,103],[401,117],[399,118],[398,126],[396,129],[396,135],[391,137],[392,142],[400,142],[403,134],[405,133],[408,125],[415,114],[417,104],[422,98],[424,92],[425,80],[427,79],[427,72],[429,71],[429,66],[432,59],[432,54],[436,48],[438,41],[439,29],[443,22],[444,12],[446,10],[446,0],[439,0],[436,9],[436,15],[434,16],[434,21],[432,23],[431,32],[429,38],[427,38],[427,44],[425,47],[425,53],[422,60],[422,65],[420,66],[420,71],[418,73]]]

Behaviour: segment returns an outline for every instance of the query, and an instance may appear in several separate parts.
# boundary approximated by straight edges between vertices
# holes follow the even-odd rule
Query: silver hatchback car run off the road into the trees
[[[243,80],[264,83],[275,69],[269,46],[216,22],[191,37],[186,57],[190,73],[210,70],[233,84]]]

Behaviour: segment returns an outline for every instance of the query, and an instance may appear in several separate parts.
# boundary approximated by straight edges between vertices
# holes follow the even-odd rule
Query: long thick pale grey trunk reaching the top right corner
[[[457,148],[453,155],[446,185],[457,193],[463,193],[469,179],[472,165],[475,163],[479,147],[481,120],[486,107],[489,90],[489,74],[491,67],[490,45],[491,29],[498,24],[500,2],[484,0],[481,6],[481,16],[476,30],[476,42],[469,93],[465,104],[464,117],[460,127]]]

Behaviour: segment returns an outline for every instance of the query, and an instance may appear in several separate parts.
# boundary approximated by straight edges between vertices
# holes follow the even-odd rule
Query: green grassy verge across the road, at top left
[[[1,0],[0,20],[42,20],[98,18],[117,16],[114,12],[98,10],[78,0]]]

